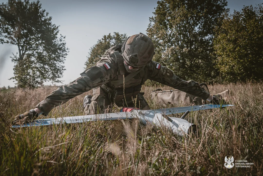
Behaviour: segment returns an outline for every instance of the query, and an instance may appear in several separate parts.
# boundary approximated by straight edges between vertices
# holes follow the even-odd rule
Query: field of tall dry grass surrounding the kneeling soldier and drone
[[[235,107],[191,112],[186,120],[200,127],[200,136],[189,139],[165,128],[119,121],[15,130],[10,128],[13,117],[34,108],[56,87],[1,92],[0,175],[263,175],[263,84],[209,86],[210,92],[227,88]],[[151,100],[154,89],[143,87],[145,98],[151,108],[163,108]],[[86,94],[53,109],[48,118],[83,115]],[[227,169],[225,156],[254,164]]]

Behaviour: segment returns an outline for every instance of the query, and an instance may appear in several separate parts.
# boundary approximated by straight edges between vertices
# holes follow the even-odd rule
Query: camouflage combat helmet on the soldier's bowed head
[[[142,33],[128,37],[122,45],[124,61],[135,68],[148,64],[154,54],[153,42]]]

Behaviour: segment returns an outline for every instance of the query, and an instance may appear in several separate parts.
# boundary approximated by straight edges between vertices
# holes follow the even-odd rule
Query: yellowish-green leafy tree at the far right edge
[[[263,7],[244,6],[223,20],[214,41],[216,67],[228,82],[263,78]]]

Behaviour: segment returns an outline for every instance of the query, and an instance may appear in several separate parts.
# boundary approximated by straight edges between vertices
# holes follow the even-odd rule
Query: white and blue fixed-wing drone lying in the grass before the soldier
[[[13,125],[12,128],[31,127],[31,126],[45,126],[53,124],[69,124],[69,123],[84,123],[89,121],[106,121],[106,120],[125,120],[138,119],[143,125],[164,126],[173,131],[178,136],[189,136],[191,133],[197,134],[198,127],[185,120],[184,118],[191,111],[200,111],[214,108],[223,108],[234,106],[232,104],[204,104],[185,107],[163,108],[153,110],[139,110],[136,108],[122,108],[121,112],[104,113],[83,116],[46,118],[33,120],[31,122]],[[181,118],[169,117],[168,115],[184,113]]]

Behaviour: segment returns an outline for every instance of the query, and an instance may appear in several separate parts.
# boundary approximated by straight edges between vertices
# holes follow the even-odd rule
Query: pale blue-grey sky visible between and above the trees
[[[6,3],[7,1],[0,1]],[[91,46],[103,35],[113,32],[126,33],[127,36],[146,34],[149,17],[153,16],[156,0],[40,0],[42,8],[52,16],[52,22],[60,25],[60,34],[66,36],[66,45],[69,53],[64,66],[65,71],[57,85],[68,84],[80,77],[85,69],[85,61]],[[233,12],[242,7],[263,3],[263,0],[228,0],[227,8]],[[0,87],[15,82],[10,56],[17,52],[17,47],[9,44],[0,44]],[[4,59],[1,59],[4,58]],[[50,85],[51,82],[45,82]]]

